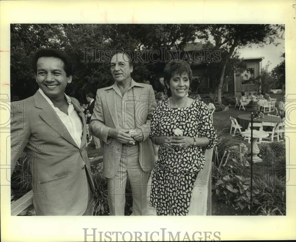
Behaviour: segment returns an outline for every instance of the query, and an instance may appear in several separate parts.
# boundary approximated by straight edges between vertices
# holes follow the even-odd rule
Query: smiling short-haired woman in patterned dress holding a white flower
[[[205,164],[202,146],[217,142],[204,102],[187,97],[192,70],[186,62],[169,62],[164,81],[170,100],[153,112],[150,138],[159,145],[152,174],[150,205],[157,215],[187,215],[197,173]]]

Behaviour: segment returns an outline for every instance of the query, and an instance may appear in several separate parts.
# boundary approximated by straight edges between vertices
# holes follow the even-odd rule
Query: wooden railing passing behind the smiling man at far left
[[[93,159],[89,159],[91,166],[102,163],[103,156],[98,156]],[[16,216],[20,214],[23,210],[25,210],[28,206],[33,203],[33,190],[30,190],[28,193],[23,195],[21,198],[13,201],[11,203],[11,216]]]

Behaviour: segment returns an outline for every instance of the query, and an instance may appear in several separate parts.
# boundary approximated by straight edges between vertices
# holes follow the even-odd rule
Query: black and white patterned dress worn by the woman
[[[186,108],[168,108],[167,101],[157,105],[149,137],[175,136],[176,128],[181,129],[184,136],[208,137],[207,149],[217,143],[209,110],[202,101],[194,100]],[[193,184],[204,165],[205,157],[200,146],[168,148],[159,144],[150,196],[150,206],[157,209],[157,215],[188,214]]]

